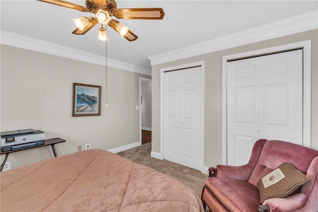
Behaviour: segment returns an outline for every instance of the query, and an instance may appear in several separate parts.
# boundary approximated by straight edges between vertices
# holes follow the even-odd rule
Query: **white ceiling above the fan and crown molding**
[[[84,0],[70,2],[85,6]],[[117,0],[117,8],[161,7],[162,20],[121,19],[129,42],[108,27],[107,57],[151,69],[148,57],[318,9],[318,0]],[[99,25],[74,35],[72,18],[94,16],[36,0],[0,0],[0,29],[105,57]]]

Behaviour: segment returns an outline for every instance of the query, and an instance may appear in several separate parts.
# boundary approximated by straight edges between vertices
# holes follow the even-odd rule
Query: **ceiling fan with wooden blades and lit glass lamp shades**
[[[99,28],[98,39],[102,41],[108,40],[106,29],[103,25],[105,25],[105,27],[109,25],[128,41],[134,41],[138,38],[127,26],[124,26],[116,19],[111,19],[111,16],[115,16],[118,19],[162,19],[164,16],[162,8],[117,8],[115,0],[85,0],[86,7],[63,0],[38,1],[52,3],[82,12],[94,13],[96,17],[83,16],[73,19],[77,28],[72,33],[83,35],[97,23],[100,23],[101,27]]]

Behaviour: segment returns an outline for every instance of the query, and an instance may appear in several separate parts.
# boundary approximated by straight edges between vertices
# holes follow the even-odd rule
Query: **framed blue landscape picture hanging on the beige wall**
[[[73,115],[100,115],[101,86],[73,83]]]

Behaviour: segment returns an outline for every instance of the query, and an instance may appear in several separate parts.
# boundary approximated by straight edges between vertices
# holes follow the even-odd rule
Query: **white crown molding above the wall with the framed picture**
[[[38,40],[35,38],[27,37],[5,30],[1,30],[0,32],[1,44],[42,52],[46,54],[52,54],[60,57],[70,58],[102,66],[106,65],[105,57],[102,57],[100,55],[91,54],[88,52],[65,47],[55,43],[46,42],[43,40]],[[126,63],[111,58],[107,58],[107,67],[117,68],[125,71],[136,72],[151,76],[151,69],[146,69],[144,67],[136,66],[130,63]]]

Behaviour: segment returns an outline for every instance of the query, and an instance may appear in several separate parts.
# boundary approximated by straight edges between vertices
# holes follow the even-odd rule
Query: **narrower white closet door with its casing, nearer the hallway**
[[[204,171],[203,70],[202,62],[161,70],[161,159],[200,171]]]

